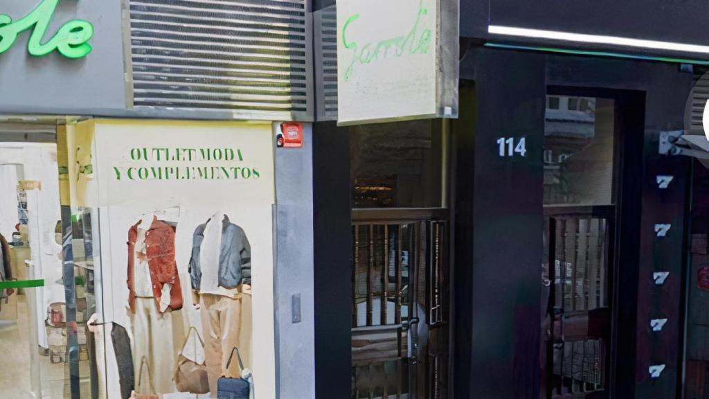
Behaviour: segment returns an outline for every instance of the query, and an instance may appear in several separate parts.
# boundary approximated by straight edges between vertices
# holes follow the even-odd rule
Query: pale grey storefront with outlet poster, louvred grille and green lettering
[[[2,234],[32,265],[3,286],[25,287],[13,397],[313,395],[307,7],[3,5]]]

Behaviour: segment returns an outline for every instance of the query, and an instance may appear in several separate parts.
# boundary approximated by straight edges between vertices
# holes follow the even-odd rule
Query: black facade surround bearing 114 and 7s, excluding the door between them
[[[545,94],[615,99],[617,273],[610,389],[618,398],[674,398],[683,323],[683,241],[689,160],[658,155],[661,131],[683,129],[692,75],[659,62],[471,49],[454,122],[456,398],[537,398],[540,386],[542,140]],[[524,158],[498,139],[527,140]],[[657,175],[674,175],[658,190]],[[672,224],[658,239],[654,224]],[[669,270],[657,288],[654,271]],[[650,319],[669,319],[652,332]],[[649,366],[664,364],[660,378]]]

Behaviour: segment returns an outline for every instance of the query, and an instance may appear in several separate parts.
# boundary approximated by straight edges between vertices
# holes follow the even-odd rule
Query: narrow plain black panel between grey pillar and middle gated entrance
[[[313,126],[316,398],[349,398],[352,270],[350,143],[334,122]]]

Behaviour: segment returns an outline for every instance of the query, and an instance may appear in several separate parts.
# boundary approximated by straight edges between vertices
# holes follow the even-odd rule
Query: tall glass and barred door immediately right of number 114
[[[615,104],[547,97],[544,398],[608,398],[613,348]]]

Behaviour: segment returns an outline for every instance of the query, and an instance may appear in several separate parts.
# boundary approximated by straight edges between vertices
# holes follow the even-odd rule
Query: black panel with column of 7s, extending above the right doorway
[[[690,160],[659,155],[658,146],[661,131],[684,129],[692,75],[680,72],[678,65],[659,62],[549,56],[547,65],[547,81],[552,84],[643,94],[644,109],[630,104],[637,102],[631,94],[622,96],[620,104],[625,110],[619,109],[625,119],[621,121],[625,129],[620,132],[625,137],[621,143],[625,177],[620,181],[622,219],[615,300],[616,392],[620,398],[675,398],[681,376],[681,276]],[[644,130],[636,131],[632,126],[643,120]],[[666,190],[659,190],[657,175],[673,175],[674,180]],[[671,224],[671,232],[659,238],[654,224]],[[637,248],[637,254],[632,248]],[[670,272],[664,285],[654,285],[654,271]],[[665,317],[664,329],[652,332],[650,319]],[[650,378],[649,367],[662,364],[661,376]]]

